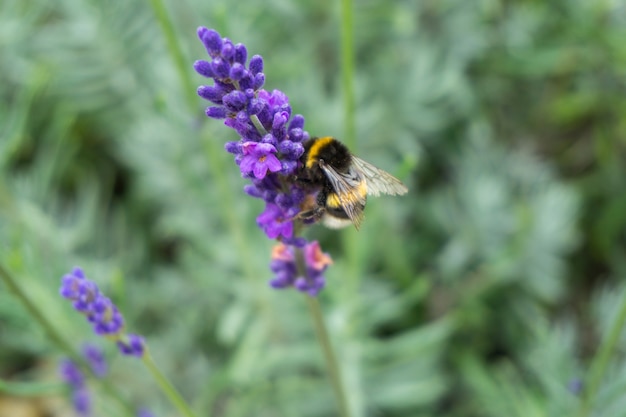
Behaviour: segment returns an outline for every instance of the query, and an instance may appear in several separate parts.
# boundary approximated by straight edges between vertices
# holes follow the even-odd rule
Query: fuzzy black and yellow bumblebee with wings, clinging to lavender
[[[298,180],[318,189],[302,207],[303,220],[322,220],[338,229],[363,220],[367,196],[402,195],[409,190],[399,179],[350,153],[346,145],[326,136],[304,143]]]

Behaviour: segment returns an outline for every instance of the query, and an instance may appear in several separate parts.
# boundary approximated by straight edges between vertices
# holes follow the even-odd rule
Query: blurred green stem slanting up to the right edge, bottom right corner
[[[578,412],[579,417],[586,417],[591,414],[592,402],[598,392],[602,378],[609,367],[611,356],[615,353],[624,324],[626,324],[626,293],[622,294],[621,305],[615,322],[591,362],[589,373],[585,380],[583,399]]]

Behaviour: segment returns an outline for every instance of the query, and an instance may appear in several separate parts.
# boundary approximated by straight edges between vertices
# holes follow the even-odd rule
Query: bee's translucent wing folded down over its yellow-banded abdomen
[[[367,194],[359,193],[363,181],[361,175],[354,169],[350,169],[346,173],[339,172],[323,162],[320,162],[320,167],[333,186],[341,203],[341,208],[358,229],[363,220],[363,207],[367,201]]]

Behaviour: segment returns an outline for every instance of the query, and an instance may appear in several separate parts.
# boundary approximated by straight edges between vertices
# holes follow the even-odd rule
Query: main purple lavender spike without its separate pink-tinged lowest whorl
[[[304,153],[302,142],[309,138],[304,118],[292,117],[284,93],[261,88],[265,82],[261,56],[248,63],[244,45],[233,44],[212,29],[199,28],[198,37],[209,60],[196,61],[194,68],[213,80],[213,85],[198,88],[198,95],[211,103],[206,114],[225,119],[224,124],[240,136],[226,150],[234,154],[241,175],[251,181],[252,193],[267,204],[257,218],[259,228],[270,239],[290,239],[305,195],[301,185],[290,180]]]

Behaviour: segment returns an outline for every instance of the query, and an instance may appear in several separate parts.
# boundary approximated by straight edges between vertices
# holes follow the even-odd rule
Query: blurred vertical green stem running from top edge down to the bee
[[[342,140],[356,150],[354,99],[354,16],[352,0],[341,1],[341,84],[343,85],[345,137]]]

